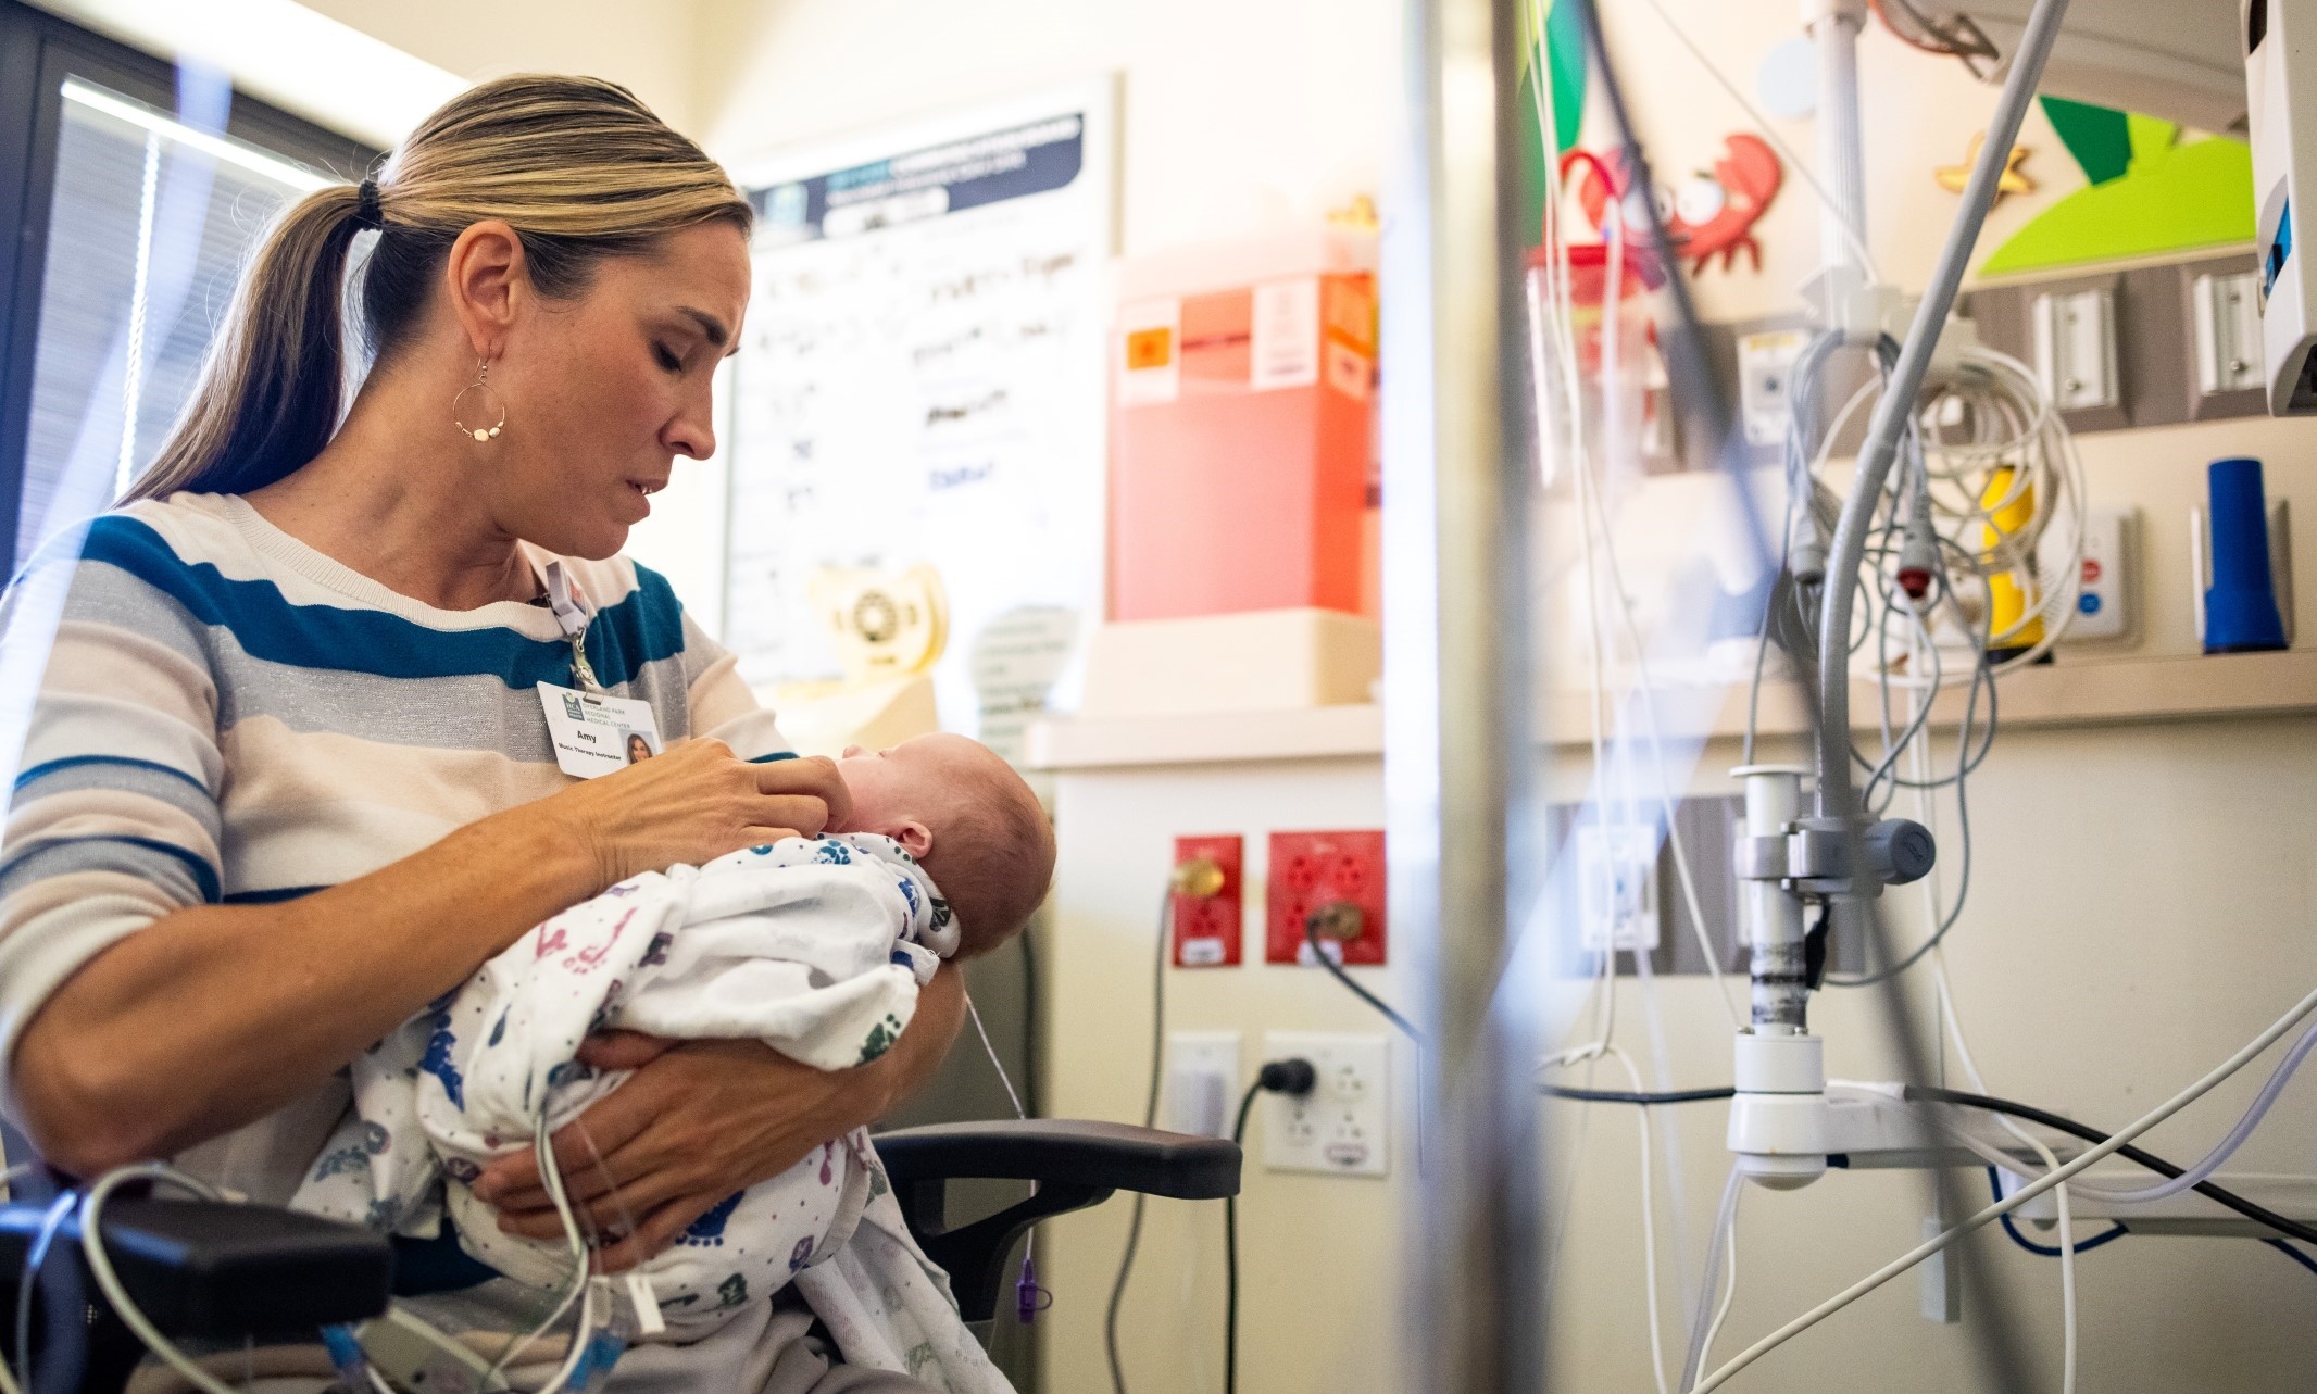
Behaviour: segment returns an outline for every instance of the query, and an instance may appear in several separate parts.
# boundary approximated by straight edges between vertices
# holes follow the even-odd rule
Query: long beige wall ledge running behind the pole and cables
[[[1745,683],[1659,688],[1659,729],[1666,739],[1740,736],[1745,704]],[[1585,741],[1587,706],[1585,692],[1559,690],[1548,697],[1545,722],[1555,743]],[[1962,688],[1942,692],[1932,706],[1932,727],[1953,729],[1962,720]],[[2317,713],[2317,648],[2057,662],[2002,678],[2004,729],[2296,713]],[[1879,722],[1874,688],[1856,685],[1851,725],[1865,732]],[[1759,732],[1798,736],[1805,729],[1800,692],[1791,683],[1766,683]],[[1379,757],[1383,709],[1360,704],[1212,716],[1050,718],[1031,727],[1029,755],[1033,766],[1057,771]]]

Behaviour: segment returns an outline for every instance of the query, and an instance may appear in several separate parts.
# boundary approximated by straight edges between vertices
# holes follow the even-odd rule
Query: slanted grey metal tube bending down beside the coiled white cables
[[[1979,243],[1988,208],[1995,206],[1995,183],[2004,174],[2027,104],[2034,102],[2037,79],[2044,76],[2044,60],[2051,58],[2064,14],[2067,0],[2037,0],[2034,14],[2027,16],[2027,32],[2020,35],[2020,46],[2011,56],[2011,74],[2004,76],[2004,90],[1995,100],[1995,116],[1988,118],[1988,139],[1979,148],[1979,162],[1972,164],[1972,181],[1962,185],[1962,208],[1946,232],[1946,245],[1939,248],[1939,264],[1914,310],[1914,324],[1907,329],[1907,343],[1898,352],[1881,401],[1874,403],[1868,442],[1858,449],[1851,496],[1842,502],[1842,519],[1835,523],[1819,621],[1819,709],[1823,713],[1817,732],[1819,817],[1849,817],[1851,813],[1851,600],[1854,577],[1868,549],[1868,526],[1874,521],[1874,498],[1898,456],[1898,438],[1914,417],[1923,373],[1930,370],[1930,354],[1939,347],[1939,329],[1946,327],[1946,313],[1956,308],[1962,269]]]

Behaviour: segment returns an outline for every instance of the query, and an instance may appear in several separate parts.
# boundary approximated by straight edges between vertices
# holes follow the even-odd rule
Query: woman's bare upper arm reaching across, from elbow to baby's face
[[[688,741],[280,905],[199,905],[118,940],[19,1037],[42,1155],[81,1176],[169,1155],[313,1088],[526,929],[602,887],[846,806],[825,760]]]

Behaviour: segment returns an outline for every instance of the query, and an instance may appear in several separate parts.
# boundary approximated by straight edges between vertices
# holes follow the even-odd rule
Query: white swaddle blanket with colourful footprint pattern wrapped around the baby
[[[535,926],[355,1061],[355,1116],[299,1209],[433,1237],[533,1285],[570,1248],[503,1234],[470,1183],[626,1081],[577,1063],[595,1030],[753,1037],[820,1070],[878,1058],[957,949],[934,882],[892,838],[788,838],[630,878]],[[848,1364],[1006,1392],[948,1278],[908,1237],[867,1130],[734,1193],[639,1269],[674,1338],[795,1283]]]

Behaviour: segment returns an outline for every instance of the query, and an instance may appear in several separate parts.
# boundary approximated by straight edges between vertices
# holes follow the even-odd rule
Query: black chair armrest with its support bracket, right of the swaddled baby
[[[985,1334],[1006,1287],[1006,1255],[1038,1220],[1101,1204],[1114,1190],[1172,1199],[1240,1193],[1240,1144],[1126,1123],[931,1123],[878,1132],[874,1142],[911,1232],[924,1255],[950,1274],[959,1315]],[[950,1230],[950,1181],[1036,1181],[1038,1193]]]

